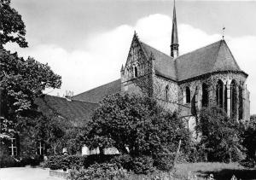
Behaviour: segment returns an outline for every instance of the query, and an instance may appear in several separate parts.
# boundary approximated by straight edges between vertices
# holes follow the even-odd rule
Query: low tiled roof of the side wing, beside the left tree
[[[66,98],[49,95],[44,95],[35,102],[42,113],[53,110],[62,118],[72,122],[75,126],[80,126],[87,122],[93,110],[98,107],[96,103],[75,100],[68,101]]]

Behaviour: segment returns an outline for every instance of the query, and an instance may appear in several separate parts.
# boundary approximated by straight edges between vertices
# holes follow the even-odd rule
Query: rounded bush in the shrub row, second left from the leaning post
[[[135,157],[131,162],[131,170],[137,174],[148,174],[150,171],[154,171],[154,160],[146,155]]]

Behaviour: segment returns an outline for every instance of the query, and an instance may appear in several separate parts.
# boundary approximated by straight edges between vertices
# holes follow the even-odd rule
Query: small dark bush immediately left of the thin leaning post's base
[[[174,155],[159,154],[154,157],[154,167],[160,171],[170,171],[173,167]]]

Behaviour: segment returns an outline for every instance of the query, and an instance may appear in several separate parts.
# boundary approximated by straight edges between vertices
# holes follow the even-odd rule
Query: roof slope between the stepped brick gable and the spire
[[[157,49],[152,48],[148,44],[144,44],[142,42],[141,44],[143,45],[143,49],[145,49],[148,56],[150,56],[151,54],[154,55],[155,73],[166,78],[177,80],[176,68],[173,58],[160,52]]]

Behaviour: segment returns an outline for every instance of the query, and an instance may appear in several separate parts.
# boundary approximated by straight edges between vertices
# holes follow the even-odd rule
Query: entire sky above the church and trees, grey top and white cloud
[[[60,90],[79,94],[120,78],[134,31],[141,41],[170,54],[173,1],[12,0],[26,24],[29,47],[6,48],[48,63],[62,77]],[[248,73],[251,113],[256,113],[256,1],[176,1],[180,54],[222,38]]]

